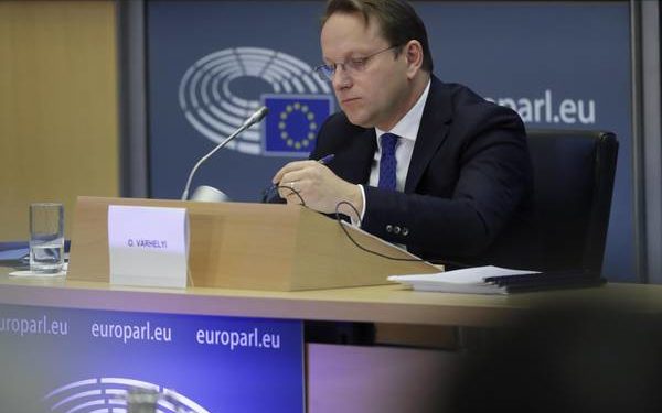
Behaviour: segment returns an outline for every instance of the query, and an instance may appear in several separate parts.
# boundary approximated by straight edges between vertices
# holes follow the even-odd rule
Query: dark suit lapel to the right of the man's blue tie
[[[414,144],[409,172],[405,182],[405,193],[410,194],[416,189],[423,173],[428,167],[433,156],[446,140],[451,120],[451,96],[435,76],[431,77],[418,135]]]

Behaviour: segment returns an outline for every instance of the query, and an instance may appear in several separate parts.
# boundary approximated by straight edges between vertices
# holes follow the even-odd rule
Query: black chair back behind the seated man
[[[600,274],[618,141],[611,132],[528,130],[534,231],[544,270]]]

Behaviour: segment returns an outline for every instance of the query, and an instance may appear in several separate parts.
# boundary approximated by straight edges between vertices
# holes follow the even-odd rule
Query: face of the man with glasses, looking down
[[[345,63],[370,56],[389,44],[380,33],[378,23],[365,24],[361,14],[332,14],[321,33],[325,64]],[[333,90],[350,121],[363,128],[391,130],[409,108],[407,62],[403,53],[385,51],[370,57],[361,70],[338,65]]]

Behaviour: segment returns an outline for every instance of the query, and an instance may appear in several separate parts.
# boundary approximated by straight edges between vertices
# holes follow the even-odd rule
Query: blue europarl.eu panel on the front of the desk
[[[302,323],[0,305],[2,412],[303,412]],[[259,396],[256,396],[259,394]],[[180,406],[181,410],[175,407]]]

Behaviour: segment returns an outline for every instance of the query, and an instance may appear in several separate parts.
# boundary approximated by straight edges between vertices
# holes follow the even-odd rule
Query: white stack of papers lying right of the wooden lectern
[[[473,267],[437,274],[391,275],[389,281],[410,285],[416,291],[447,293],[508,294],[508,287],[491,281],[492,278],[538,274],[537,271],[512,270],[500,267]],[[488,279],[485,281],[485,279]]]

